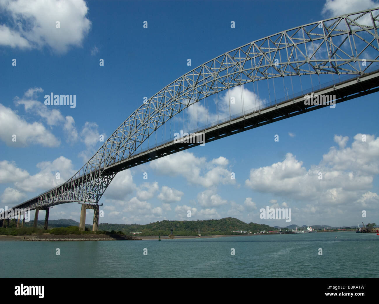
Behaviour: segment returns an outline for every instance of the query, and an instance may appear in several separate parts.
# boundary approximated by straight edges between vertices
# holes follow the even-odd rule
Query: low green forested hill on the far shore
[[[99,224],[99,230],[142,232],[140,235],[169,235],[170,229],[173,229],[174,235],[197,235],[200,228],[201,235],[218,235],[218,234],[238,234],[233,230],[247,230],[254,232],[276,230],[273,227],[263,224],[244,223],[238,218],[221,218],[220,220],[197,220],[197,221],[157,221],[146,225],[139,224]]]

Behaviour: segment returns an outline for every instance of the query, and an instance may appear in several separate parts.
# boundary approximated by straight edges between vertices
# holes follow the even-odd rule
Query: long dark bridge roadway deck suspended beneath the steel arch
[[[315,90],[313,93],[317,95],[335,95],[336,99],[334,102],[335,104],[337,104],[346,100],[351,100],[353,98],[357,98],[363,95],[368,95],[368,94],[377,92],[378,90],[379,90],[379,70],[375,70],[373,72],[365,73],[363,75],[357,75],[357,77],[350,78],[346,81],[341,81],[338,84],[332,84],[322,89]],[[311,92],[306,92],[306,93],[310,94]],[[208,142],[212,142],[213,140],[217,140],[217,139],[227,137],[236,133],[240,133],[240,132],[247,131],[253,128],[257,128],[258,126],[267,125],[268,123],[277,122],[285,118],[307,113],[307,112],[324,108],[327,106],[329,105],[316,105],[316,106],[305,105],[304,95],[299,95],[296,98],[285,100],[277,104],[269,105],[266,108],[263,108],[260,110],[245,111],[245,113],[242,113],[238,117],[234,117],[231,119],[229,119],[228,117],[224,119],[224,121],[221,121],[221,122],[219,121],[211,126],[208,126],[207,128],[197,129],[193,132],[205,133],[205,144],[206,144]],[[331,111],[333,111],[333,109],[331,109]],[[189,136],[188,139],[190,137],[191,136]],[[123,161],[116,162],[109,167],[105,167],[102,172],[102,176],[114,175],[115,173],[119,171],[123,171],[128,168],[132,168],[137,165],[152,161],[153,159],[158,159],[160,157],[177,153],[179,151],[183,151],[183,150],[186,150],[198,145],[200,145],[200,143],[184,143],[184,142],[174,142],[173,140],[170,140],[156,147],[149,148],[148,150],[142,151],[141,153],[132,155]],[[102,169],[100,169],[100,171],[101,170]],[[94,172],[89,173],[85,176],[80,176],[79,178],[75,179],[73,183],[71,182],[71,180],[69,180],[65,182],[64,184],[62,184],[63,185],[62,188],[58,188],[58,189],[63,189],[63,192],[69,191],[73,189],[74,187],[78,186],[81,182],[86,181],[88,179],[92,179],[92,180],[94,179]],[[47,229],[47,220],[48,220],[47,218],[49,214],[48,212],[49,207],[70,202],[70,201],[53,201],[53,202],[44,204],[43,206],[37,206],[38,198],[44,195],[45,193],[52,191],[53,189],[50,189],[44,193],[41,193],[39,196],[36,196],[28,201],[25,201],[19,204],[13,207],[13,209],[23,208],[23,209],[30,209],[30,210],[34,210],[34,209],[46,210],[45,228]],[[86,205],[87,209],[94,209],[90,204],[88,204],[88,202],[81,202],[81,203],[86,203],[83,205]],[[83,213],[83,210],[82,210],[82,213]],[[95,210],[95,214],[96,213],[98,213],[98,208],[97,208],[97,212]],[[36,218],[38,218],[38,214]],[[36,218],[34,222],[35,225],[36,225]],[[4,225],[4,222],[5,221],[3,221],[3,225]]]

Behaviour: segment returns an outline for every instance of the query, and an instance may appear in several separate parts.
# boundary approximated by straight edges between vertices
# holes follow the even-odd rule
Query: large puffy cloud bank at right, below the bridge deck
[[[352,206],[372,188],[373,178],[379,173],[379,137],[366,135],[366,141],[362,141],[363,135],[354,136],[351,147],[345,147],[347,137],[335,137],[339,149],[330,148],[319,165],[309,170],[287,153],[282,162],[251,169],[245,184],[255,191],[292,200]]]

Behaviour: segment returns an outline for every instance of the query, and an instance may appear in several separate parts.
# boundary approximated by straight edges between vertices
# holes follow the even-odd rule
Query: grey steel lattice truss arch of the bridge
[[[117,172],[197,145],[170,143],[137,153],[143,142],[164,123],[192,104],[223,90],[251,82],[303,75],[355,75],[357,83],[360,77],[368,75],[371,65],[379,62],[378,27],[379,8],[367,9],[291,28],[205,62],[144,102],[68,181],[14,208],[43,209],[69,202],[99,204]],[[367,58],[368,54],[371,58]],[[360,83],[349,91],[343,91],[342,86],[338,102],[354,98],[347,97],[352,91],[363,95],[379,90],[379,76],[370,77],[366,85]],[[292,104],[295,104],[295,98]],[[274,106],[278,108],[278,104]],[[297,108],[303,112],[307,109],[304,105]],[[270,117],[270,111],[266,111],[265,116],[265,109],[260,109],[255,115],[255,123],[238,130],[299,114],[290,114],[292,109],[275,118]],[[232,120],[227,123],[230,126]],[[215,126],[214,133],[208,134],[208,141],[226,134],[221,134],[220,129]],[[234,133],[230,131],[227,135],[231,134]]]

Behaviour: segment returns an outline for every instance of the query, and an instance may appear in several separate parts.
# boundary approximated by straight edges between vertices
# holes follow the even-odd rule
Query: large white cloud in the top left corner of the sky
[[[0,25],[0,45],[13,48],[47,46],[66,53],[70,46],[81,46],[91,28],[83,0],[0,0],[0,11],[9,18]]]

